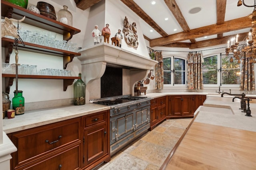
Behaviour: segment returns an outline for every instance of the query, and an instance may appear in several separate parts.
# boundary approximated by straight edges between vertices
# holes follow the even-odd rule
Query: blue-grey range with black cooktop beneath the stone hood
[[[110,106],[111,155],[150,128],[150,99],[147,97],[119,96],[90,102]]]

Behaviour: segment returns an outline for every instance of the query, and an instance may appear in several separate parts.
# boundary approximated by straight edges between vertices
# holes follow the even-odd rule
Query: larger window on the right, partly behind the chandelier
[[[240,84],[240,65],[236,61],[230,63],[226,55],[205,57],[202,70],[204,84]]]

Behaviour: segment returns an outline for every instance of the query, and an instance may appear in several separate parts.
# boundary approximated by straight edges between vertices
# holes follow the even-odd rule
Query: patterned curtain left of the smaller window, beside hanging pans
[[[164,61],[162,56],[162,51],[154,52],[154,56],[156,61],[158,61],[158,64],[156,64],[156,84],[155,89],[162,90],[164,88]]]

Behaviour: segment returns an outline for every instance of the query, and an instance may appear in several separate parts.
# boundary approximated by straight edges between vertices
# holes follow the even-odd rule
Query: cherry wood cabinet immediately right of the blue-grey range
[[[150,131],[166,118],[166,96],[150,101]]]

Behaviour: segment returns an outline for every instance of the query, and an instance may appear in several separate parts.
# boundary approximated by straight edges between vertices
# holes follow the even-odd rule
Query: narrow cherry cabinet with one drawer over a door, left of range
[[[110,112],[102,111],[82,117],[83,120],[83,169],[110,161]]]

